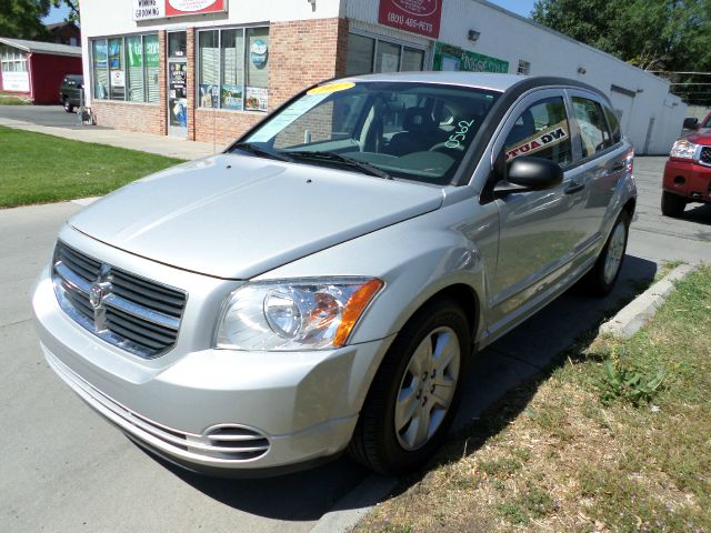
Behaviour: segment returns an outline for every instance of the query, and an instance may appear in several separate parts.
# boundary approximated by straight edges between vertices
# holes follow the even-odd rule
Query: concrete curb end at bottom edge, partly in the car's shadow
[[[385,497],[398,484],[398,480],[385,475],[371,474],[352,491],[339,500],[333,510],[319,519],[309,533],[346,533],[360,519]]]

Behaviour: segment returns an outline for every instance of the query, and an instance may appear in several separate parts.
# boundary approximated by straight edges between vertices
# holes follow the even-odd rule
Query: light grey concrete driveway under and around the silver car
[[[615,292],[590,300],[570,291],[480,353],[458,424],[479,416],[617,310],[653,276],[659,261],[711,260],[711,208],[689,210],[674,221],[659,214],[662,164],[661,158],[638,159],[640,217]],[[270,480],[183,473],[142,452],[74,396],[42,359],[29,299],[57,229],[78,209],[60,203],[0,210],[2,531],[307,532],[334,505],[348,510],[375,496],[353,495],[373,477],[347,459]],[[324,531],[323,523],[318,527]]]

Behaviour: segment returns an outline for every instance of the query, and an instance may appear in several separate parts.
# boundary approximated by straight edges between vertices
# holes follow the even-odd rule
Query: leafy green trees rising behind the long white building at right
[[[711,103],[711,76],[679,73],[711,72],[711,0],[537,0],[531,17],[641,69],[665,73],[689,102]],[[688,88],[695,88],[694,98]]]

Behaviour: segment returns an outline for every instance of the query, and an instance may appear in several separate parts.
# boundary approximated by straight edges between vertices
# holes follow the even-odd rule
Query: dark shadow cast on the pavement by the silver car
[[[538,382],[544,380],[558,363],[561,352],[583,333],[594,331],[604,319],[642,292],[655,272],[655,263],[628,255],[615,290],[607,298],[591,299],[573,288],[477,354],[470,365],[453,429],[457,432],[481,419],[475,424],[474,436],[468,440],[467,453],[477,450],[514,419],[529,403]],[[457,446],[457,443],[452,441],[451,445]],[[458,449],[453,453],[461,456],[462,451]],[[453,456],[445,452],[443,459],[440,455],[440,461]],[[348,499],[339,500],[370,475],[369,471],[347,457],[314,470],[262,480],[207,477],[154,459],[197,490],[226,505],[286,521],[314,521],[334,505],[348,509],[349,504],[344,503]],[[424,473],[420,472],[415,477]],[[415,481],[403,480],[399,490],[407,490]],[[354,506],[367,504],[361,501]]]

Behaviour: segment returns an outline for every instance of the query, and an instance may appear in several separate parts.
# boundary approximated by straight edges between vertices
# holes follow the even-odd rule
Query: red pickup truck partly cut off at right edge
[[[684,120],[693,130],[674,142],[664,167],[662,214],[681,217],[687,203],[711,203],[711,113],[699,122]]]

